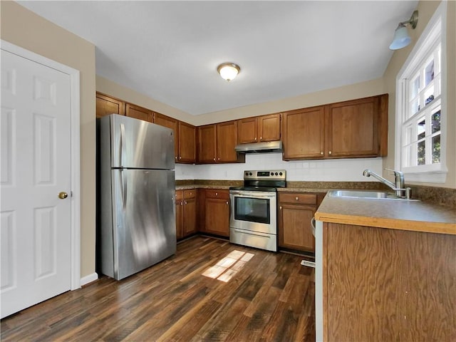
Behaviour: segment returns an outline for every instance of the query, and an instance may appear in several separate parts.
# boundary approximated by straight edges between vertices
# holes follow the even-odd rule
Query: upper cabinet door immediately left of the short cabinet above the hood
[[[237,162],[237,123],[217,123],[217,162]]]

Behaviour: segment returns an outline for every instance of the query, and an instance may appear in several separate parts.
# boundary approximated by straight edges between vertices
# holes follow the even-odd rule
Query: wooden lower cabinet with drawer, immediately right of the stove
[[[324,194],[279,192],[279,248],[315,252],[311,219]]]

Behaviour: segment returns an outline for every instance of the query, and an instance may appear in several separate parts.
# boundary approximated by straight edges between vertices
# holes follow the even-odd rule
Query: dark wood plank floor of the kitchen
[[[4,318],[1,341],[315,341],[314,269],[301,259],[195,237],[139,274]]]

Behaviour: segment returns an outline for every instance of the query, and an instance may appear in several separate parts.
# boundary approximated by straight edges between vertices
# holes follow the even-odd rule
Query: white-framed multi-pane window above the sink
[[[395,168],[415,182],[445,182],[445,1],[396,79]],[[445,6],[444,6],[445,5]]]

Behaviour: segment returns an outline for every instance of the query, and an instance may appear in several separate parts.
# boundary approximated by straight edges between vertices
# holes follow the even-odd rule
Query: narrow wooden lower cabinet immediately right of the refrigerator
[[[197,192],[195,189],[176,191],[176,238],[197,232]]]

